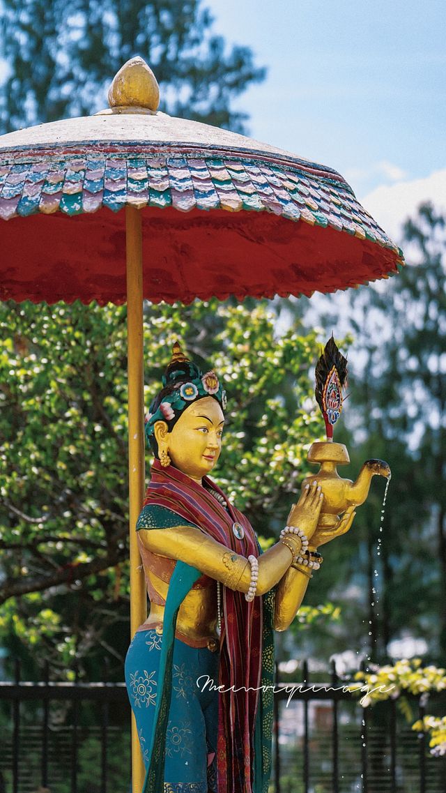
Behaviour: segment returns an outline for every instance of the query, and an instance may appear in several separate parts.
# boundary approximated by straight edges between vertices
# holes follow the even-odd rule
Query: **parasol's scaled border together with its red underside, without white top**
[[[124,302],[125,206],[143,210],[144,297],[152,301],[333,292],[402,263],[340,174],[316,163],[150,141],[22,146],[0,151],[0,217],[12,220],[2,228],[0,297]],[[32,215],[40,217],[34,229]]]

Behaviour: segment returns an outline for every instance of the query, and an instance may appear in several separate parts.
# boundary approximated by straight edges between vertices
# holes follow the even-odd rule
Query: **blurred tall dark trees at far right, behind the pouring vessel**
[[[421,206],[403,229],[410,263],[389,282],[343,296],[323,320],[355,339],[347,426],[337,439],[354,470],[372,457],[392,469],[383,531],[375,485],[352,531],[325,554],[330,571],[344,565],[359,618],[349,621],[350,636],[374,660],[402,629],[425,638],[430,657],[446,651],[444,224],[432,205]],[[334,582],[330,597],[339,595]]]

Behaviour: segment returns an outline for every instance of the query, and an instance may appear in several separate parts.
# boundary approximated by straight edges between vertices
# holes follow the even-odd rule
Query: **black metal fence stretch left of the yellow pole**
[[[109,793],[116,791],[116,768],[123,776],[123,793],[130,780],[130,706],[124,683],[83,683],[21,680],[0,681],[0,703],[10,701],[9,730],[3,729],[0,753],[0,793]],[[58,705],[62,705],[58,711]],[[32,707],[27,707],[32,706]],[[36,707],[37,706],[37,707]],[[52,712],[51,712],[52,711]],[[110,711],[113,719],[110,723]],[[52,718],[51,718],[52,717]],[[85,757],[86,742],[95,757]],[[93,747],[91,747],[93,745]],[[118,755],[116,755],[116,751]],[[86,773],[82,779],[82,764]]]

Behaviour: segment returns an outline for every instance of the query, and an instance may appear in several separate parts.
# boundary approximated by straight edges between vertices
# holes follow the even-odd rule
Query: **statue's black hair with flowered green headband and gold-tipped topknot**
[[[146,416],[147,440],[154,435],[157,421],[166,421],[168,426],[172,422],[173,426],[189,404],[203,397],[214,397],[221,408],[226,409],[226,392],[215,372],[203,374],[181,351],[178,342],[173,345],[172,358],[162,377],[162,386],[162,391],[153,400]]]

